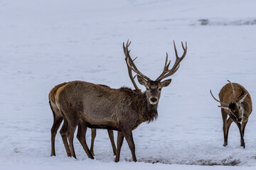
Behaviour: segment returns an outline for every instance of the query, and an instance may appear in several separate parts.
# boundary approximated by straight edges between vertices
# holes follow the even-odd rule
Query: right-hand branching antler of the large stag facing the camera
[[[183,47],[183,55],[181,57],[178,57],[178,52],[176,50],[176,45],[175,45],[175,42],[174,42],[174,50],[175,50],[175,55],[176,55],[176,61],[174,63],[174,66],[169,69],[169,66],[171,64],[171,60],[168,62],[168,53],[166,52],[166,62],[164,64],[164,71],[162,72],[162,74],[156,79],[158,81],[161,81],[162,79],[166,78],[166,77],[169,77],[171,75],[173,75],[175,72],[177,72],[178,68],[180,67],[180,62],[181,60],[183,60],[183,58],[186,56],[186,52],[187,52],[187,42],[186,42],[186,47],[184,47],[183,45],[183,42],[181,42],[181,45]],[[167,64],[168,62],[168,64]]]

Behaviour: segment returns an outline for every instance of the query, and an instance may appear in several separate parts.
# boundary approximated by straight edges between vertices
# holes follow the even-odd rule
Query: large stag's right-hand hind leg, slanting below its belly
[[[77,135],[77,138],[78,138],[80,144],[82,145],[82,148],[85,150],[85,153],[87,154],[87,156],[90,159],[94,159],[94,157],[92,156],[92,153],[90,152],[90,150],[89,150],[89,148],[87,146],[86,140],[85,140],[86,131],[87,131],[87,126],[85,126],[84,123],[78,124],[78,135]]]

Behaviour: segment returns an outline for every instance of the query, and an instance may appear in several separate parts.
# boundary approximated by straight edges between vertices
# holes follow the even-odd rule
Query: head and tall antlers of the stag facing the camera
[[[130,44],[131,42],[129,42],[129,40],[127,41],[126,46],[124,46],[124,43],[123,43],[125,61],[127,62],[129,77],[132,81],[132,84],[134,84],[135,89],[141,91],[134,81],[135,77],[137,77],[139,84],[142,84],[143,86],[146,87],[145,93],[146,93],[147,101],[149,101],[151,105],[156,105],[159,102],[159,98],[161,96],[161,89],[171,84],[171,79],[167,79],[164,81],[161,81],[161,80],[173,75],[178,70],[181,60],[183,60],[183,58],[186,56],[187,43],[186,43],[186,47],[184,47],[183,42],[181,42],[184,52],[182,57],[178,57],[178,53],[177,53],[175,42],[174,42],[176,62],[174,63],[174,66],[171,69],[169,69],[169,65],[171,64],[171,61],[168,62],[168,54],[166,52],[166,62],[164,64],[164,71],[160,74],[160,76],[155,81],[152,81],[151,79],[149,79],[149,77],[146,77],[144,74],[142,74],[142,72],[139,72],[139,69],[137,69],[137,67],[134,64],[134,60],[136,60],[136,58],[132,60],[132,58],[129,55],[130,51],[128,50],[128,47]],[[134,77],[132,76],[132,71],[136,73]]]

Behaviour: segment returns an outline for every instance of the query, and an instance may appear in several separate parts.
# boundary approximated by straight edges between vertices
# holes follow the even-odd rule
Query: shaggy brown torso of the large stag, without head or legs
[[[119,130],[120,122],[135,128],[146,121],[139,111],[143,108],[140,106],[143,95],[129,88],[111,89],[105,85],[71,81],[57,90],[55,99],[71,122],[82,120],[89,128]],[[144,100],[146,103],[146,98]]]

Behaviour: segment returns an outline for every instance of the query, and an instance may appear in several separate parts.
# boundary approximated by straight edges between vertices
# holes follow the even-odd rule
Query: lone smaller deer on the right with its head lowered
[[[221,113],[223,117],[223,134],[224,134],[224,144],[228,145],[228,130],[231,123],[235,122],[238,125],[238,129],[241,137],[241,147],[245,148],[245,125],[247,124],[250,113],[252,113],[252,99],[248,91],[240,84],[231,83],[228,80],[228,84],[223,86],[220,90],[218,101],[210,91],[211,96],[215,101],[220,102]],[[229,118],[227,120],[227,117]]]

